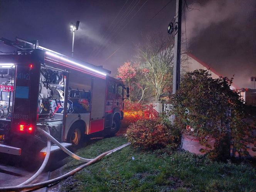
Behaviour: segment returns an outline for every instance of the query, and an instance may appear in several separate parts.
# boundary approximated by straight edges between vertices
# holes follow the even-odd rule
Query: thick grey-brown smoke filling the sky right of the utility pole
[[[189,5],[191,6],[191,4]],[[192,54],[234,84],[251,87],[256,76],[256,1],[209,0],[186,10],[187,42]],[[185,29],[183,20],[183,30]]]

